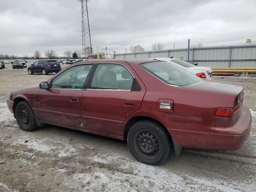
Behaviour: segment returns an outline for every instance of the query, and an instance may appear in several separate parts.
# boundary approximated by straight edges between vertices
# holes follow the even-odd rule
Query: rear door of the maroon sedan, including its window
[[[138,76],[126,62],[97,64],[91,83],[88,82],[90,87],[82,96],[84,128],[120,136],[124,120],[140,109],[146,92],[136,79]]]

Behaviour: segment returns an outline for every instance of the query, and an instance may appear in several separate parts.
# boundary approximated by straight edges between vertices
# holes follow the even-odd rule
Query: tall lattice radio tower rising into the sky
[[[91,34],[90,34],[90,25],[89,25],[89,17],[88,17],[88,9],[87,2],[90,0],[78,0],[81,2],[81,13],[82,13],[82,54],[84,54],[84,58],[86,56],[86,47],[91,49],[92,55],[92,42],[91,42]]]

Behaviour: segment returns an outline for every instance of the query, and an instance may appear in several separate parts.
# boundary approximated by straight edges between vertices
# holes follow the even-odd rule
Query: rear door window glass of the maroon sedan
[[[134,78],[129,70],[120,64],[98,64],[90,88],[131,90]]]

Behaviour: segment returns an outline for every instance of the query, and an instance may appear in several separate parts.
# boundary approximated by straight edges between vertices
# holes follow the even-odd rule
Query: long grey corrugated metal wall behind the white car
[[[188,60],[188,49],[116,54],[115,58],[159,58],[172,56],[173,58]],[[256,44],[191,48],[189,60],[193,64],[197,63],[198,66],[256,68]]]

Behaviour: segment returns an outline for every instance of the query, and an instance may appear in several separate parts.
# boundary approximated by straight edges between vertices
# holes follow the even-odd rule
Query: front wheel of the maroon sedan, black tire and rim
[[[38,128],[35,114],[26,101],[17,104],[15,108],[15,117],[18,125],[24,131],[33,131]]]

